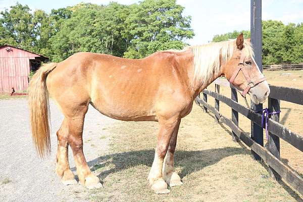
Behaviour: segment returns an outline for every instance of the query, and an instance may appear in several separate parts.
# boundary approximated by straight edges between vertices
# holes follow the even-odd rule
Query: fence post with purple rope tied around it
[[[268,97],[268,109],[270,112],[280,111],[280,100]],[[271,115],[271,119],[279,122],[280,114]],[[280,138],[271,132],[268,133],[268,148],[270,153],[274,155],[277,159],[280,159]],[[281,176],[271,167],[270,174],[275,180],[280,180]]]

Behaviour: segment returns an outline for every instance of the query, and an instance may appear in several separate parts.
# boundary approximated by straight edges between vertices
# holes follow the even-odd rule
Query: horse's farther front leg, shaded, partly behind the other
[[[163,179],[166,180],[167,184],[169,184],[170,187],[183,184],[181,182],[181,178],[175,172],[175,169],[174,169],[174,153],[175,153],[175,149],[176,149],[177,135],[178,135],[180,122],[181,122],[181,120],[178,121],[178,123],[174,129],[166,156],[164,158],[164,164],[163,164],[163,170],[162,170]]]

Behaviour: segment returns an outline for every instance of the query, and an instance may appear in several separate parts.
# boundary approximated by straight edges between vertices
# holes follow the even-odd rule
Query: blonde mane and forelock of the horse
[[[187,46],[182,50],[170,49],[167,51],[182,53],[190,50],[194,55],[194,80],[207,83],[218,75],[220,71],[220,60],[222,64],[229,61],[236,50],[236,41],[228,40],[221,42],[212,42],[205,45]],[[244,40],[243,49],[246,56],[254,57],[254,50],[249,40]]]

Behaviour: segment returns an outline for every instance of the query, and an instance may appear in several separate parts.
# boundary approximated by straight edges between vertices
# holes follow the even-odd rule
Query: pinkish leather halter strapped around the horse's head
[[[236,71],[233,73],[233,75],[231,76],[231,78],[229,79],[229,82],[233,85],[233,82],[235,80],[235,78],[237,77],[237,75],[239,74],[239,72],[242,71],[246,81],[247,81],[247,87],[242,91],[241,95],[243,97],[246,96],[247,92],[249,91],[250,88],[256,86],[257,84],[261,83],[262,81],[265,81],[266,78],[263,77],[263,78],[260,78],[260,79],[257,79],[255,81],[252,81],[249,74],[247,73],[246,69],[245,69],[245,66],[244,66],[244,54],[243,52],[241,53],[241,58],[240,58],[240,61],[239,61],[239,64],[238,64],[238,67],[236,69]]]

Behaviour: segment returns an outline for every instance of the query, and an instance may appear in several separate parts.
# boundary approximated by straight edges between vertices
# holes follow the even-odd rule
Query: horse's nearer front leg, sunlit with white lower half
[[[157,147],[155,150],[155,159],[151,166],[148,182],[156,193],[169,193],[167,183],[164,181],[162,176],[162,167],[164,157],[169,147],[170,139],[174,132],[175,127],[178,125],[179,118],[173,117],[170,119],[159,119],[159,133],[157,137]]]

